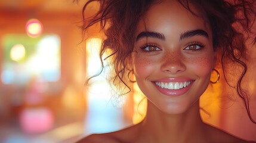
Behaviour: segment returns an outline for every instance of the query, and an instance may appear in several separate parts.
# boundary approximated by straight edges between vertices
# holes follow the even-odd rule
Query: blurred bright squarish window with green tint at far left
[[[1,82],[6,85],[23,85],[33,79],[40,83],[57,82],[61,76],[60,40],[58,35],[41,35],[38,38],[30,38],[26,34],[5,35],[2,40]]]

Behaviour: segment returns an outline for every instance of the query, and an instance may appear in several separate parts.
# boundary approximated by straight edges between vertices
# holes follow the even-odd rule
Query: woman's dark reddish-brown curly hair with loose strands
[[[233,88],[239,97],[242,98],[249,118],[256,123],[251,117],[249,109],[248,95],[242,89],[241,83],[246,74],[246,41],[252,38],[255,44],[256,36],[252,32],[252,25],[255,21],[256,1],[254,0],[177,0],[184,8],[192,14],[191,5],[202,11],[208,18],[209,25],[212,29],[212,41],[215,51],[221,52],[221,66],[225,79],[225,64],[229,61],[242,67],[238,82]],[[84,11],[91,2],[99,2],[100,8],[90,18],[85,18]],[[119,88],[129,89],[127,75],[129,69],[129,60],[134,48],[135,29],[138,21],[146,13],[151,5],[161,2],[159,0],[89,0],[83,8],[83,33],[95,23],[100,22],[101,30],[106,35],[100,49],[102,69],[104,69],[103,60],[111,58],[114,74],[109,79],[113,85]],[[195,14],[196,15],[196,14]],[[110,51],[110,52],[109,52]],[[103,55],[107,55],[104,58]],[[101,73],[101,72],[100,72]],[[98,73],[98,74],[100,74]],[[97,74],[97,75],[98,75]],[[95,76],[97,76],[95,75]],[[93,77],[93,76],[92,76]],[[88,81],[92,78],[90,77]],[[124,85],[124,86],[120,86]],[[122,89],[121,89],[122,90]],[[123,93],[126,94],[127,92]]]

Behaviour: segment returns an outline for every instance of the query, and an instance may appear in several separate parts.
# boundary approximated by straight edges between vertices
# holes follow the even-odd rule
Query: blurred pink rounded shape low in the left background
[[[21,129],[26,133],[41,133],[53,127],[54,117],[48,108],[25,108],[20,114]]]

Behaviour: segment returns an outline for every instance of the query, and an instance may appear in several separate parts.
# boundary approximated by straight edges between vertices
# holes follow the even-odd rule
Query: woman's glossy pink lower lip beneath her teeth
[[[153,82],[153,84],[156,86],[156,89],[158,89],[158,91],[160,91],[162,94],[170,96],[170,97],[176,97],[176,96],[186,94],[186,92],[188,92],[189,89],[191,88],[191,86],[193,85],[193,82],[194,82],[194,80],[192,80],[190,85],[186,86],[185,88],[181,88],[181,89],[166,89],[166,88],[159,87],[158,85],[156,85],[155,82]]]

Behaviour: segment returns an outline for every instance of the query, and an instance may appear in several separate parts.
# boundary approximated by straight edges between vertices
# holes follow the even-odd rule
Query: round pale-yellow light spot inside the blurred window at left
[[[10,57],[12,60],[20,61],[25,55],[26,50],[22,44],[18,43],[11,48]]]

